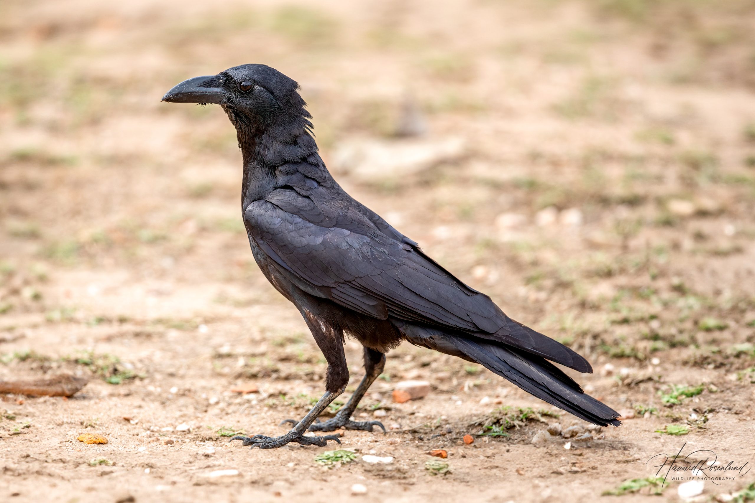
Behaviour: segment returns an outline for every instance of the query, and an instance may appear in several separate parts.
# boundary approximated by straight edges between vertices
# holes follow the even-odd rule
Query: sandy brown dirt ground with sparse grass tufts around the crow
[[[748,464],[690,498],[752,501],[753,41],[744,0],[0,2],[0,379],[91,378],[2,396],[0,501],[679,501],[648,461],[680,449]],[[584,354],[624,425],[533,444],[587,425],[402,345],[353,462],[228,443],[285,432],[325,372],[249,251],[233,127],[159,101],[240,63],[299,81],[344,188]],[[405,379],[432,390],[393,403]]]

